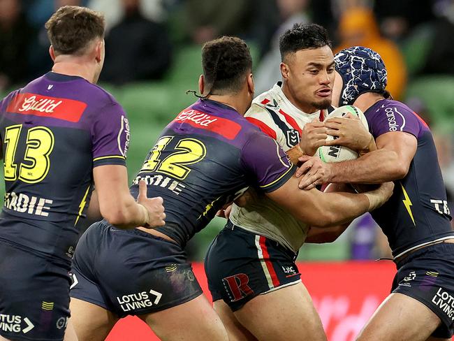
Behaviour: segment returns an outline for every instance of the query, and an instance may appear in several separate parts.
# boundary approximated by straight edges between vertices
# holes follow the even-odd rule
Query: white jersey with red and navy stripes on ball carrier
[[[312,114],[302,112],[286,98],[281,82],[277,82],[268,92],[254,99],[244,117],[277,140],[287,151],[300,142],[301,131],[306,123],[315,118],[323,120],[330,111],[331,108]],[[265,196],[260,196],[256,203],[247,208],[233,204],[230,220],[247,231],[276,240],[294,252],[298,252],[305,242],[309,228]]]

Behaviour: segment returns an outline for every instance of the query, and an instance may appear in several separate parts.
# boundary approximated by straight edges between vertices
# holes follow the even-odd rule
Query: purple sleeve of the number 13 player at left
[[[129,122],[122,106],[108,103],[91,126],[93,166],[126,166],[129,147]]]

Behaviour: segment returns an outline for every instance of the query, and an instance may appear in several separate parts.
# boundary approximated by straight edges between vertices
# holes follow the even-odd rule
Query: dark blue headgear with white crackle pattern
[[[342,77],[339,106],[351,105],[365,92],[383,92],[387,82],[385,64],[380,55],[363,46],[346,48],[334,57],[336,71]]]

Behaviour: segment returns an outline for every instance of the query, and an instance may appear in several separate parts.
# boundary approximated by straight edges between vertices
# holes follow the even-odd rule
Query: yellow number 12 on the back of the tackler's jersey
[[[183,180],[191,171],[186,165],[196,164],[207,154],[205,145],[201,141],[194,138],[183,138],[175,146],[175,152],[163,160],[159,159],[172,139],[173,136],[163,136],[158,140],[149,159],[143,164],[142,171],[156,170],[156,172],[166,173]]]

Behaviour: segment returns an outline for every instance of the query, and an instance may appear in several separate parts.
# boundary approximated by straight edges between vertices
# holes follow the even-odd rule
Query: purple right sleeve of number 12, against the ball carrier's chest
[[[244,145],[241,161],[252,185],[265,192],[281,187],[296,170],[277,142],[261,132],[254,133]]]

